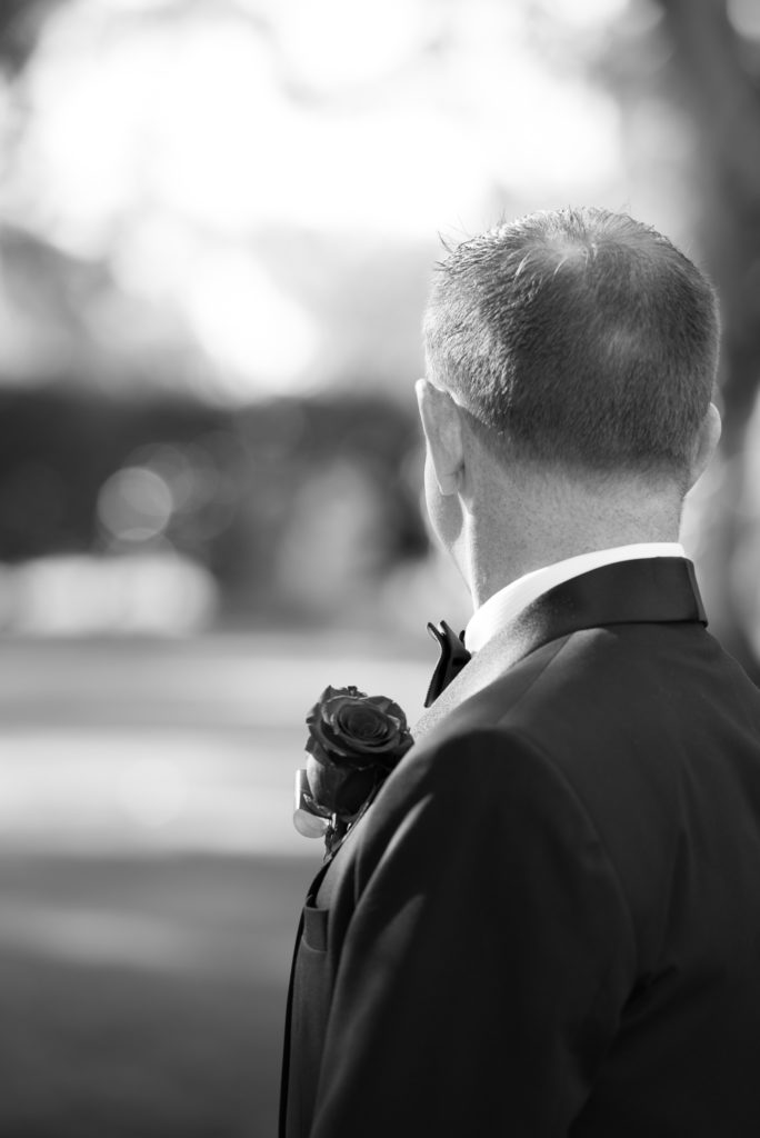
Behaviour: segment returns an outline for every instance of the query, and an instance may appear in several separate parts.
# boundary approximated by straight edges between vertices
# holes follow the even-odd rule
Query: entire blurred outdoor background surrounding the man
[[[684,541],[760,678],[760,6],[0,0],[0,1135],[269,1138],[305,712],[414,720],[468,616],[441,238],[598,204],[711,273]]]

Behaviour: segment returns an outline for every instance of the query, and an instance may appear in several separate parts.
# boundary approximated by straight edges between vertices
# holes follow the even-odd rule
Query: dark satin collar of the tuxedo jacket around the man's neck
[[[621,624],[707,625],[694,566],[685,558],[619,561],[543,593],[510,620],[414,727],[415,741],[524,657],[585,628]],[[559,649],[559,644],[557,644]]]

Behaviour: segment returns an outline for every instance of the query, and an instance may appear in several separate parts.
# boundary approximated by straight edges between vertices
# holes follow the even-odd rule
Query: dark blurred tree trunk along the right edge
[[[672,49],[672,96],[697,141],[700,239],[724,327],[721,465],[704,519],[701,577],[713,628],[760,682],[747,635],[757,593],[743,595],[733,571],[754,525],[743,504],[747,429],[760,384],[760,48],[740,34],[727,0],[658,2]]]

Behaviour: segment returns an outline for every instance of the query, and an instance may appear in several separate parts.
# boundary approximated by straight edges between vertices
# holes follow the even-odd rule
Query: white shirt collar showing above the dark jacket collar
[[[590,569],[601,569],[602,566],[610,566],[616,561],[684,556],[686,553],[679,542],[641,542],[637,545],[618,545],[613,550],[581,553],[577,558],[567,558],[552,566],[544,566],[543,569],[534,569],[524,577],[518,577],[510,585],[499,588],[498,593],[494,593],[479,609],[476,609],[464,633],[464,643],[470,652],[479,652],[496,633],[542,593]]]

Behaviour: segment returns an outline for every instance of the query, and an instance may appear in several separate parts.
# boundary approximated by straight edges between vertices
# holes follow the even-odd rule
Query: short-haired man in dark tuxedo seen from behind
[[[760,694],[677,544],[710,284],[597,209],[440,266],[418,385],[471,662],[305,910],[288,1138],[760,1133]]]

